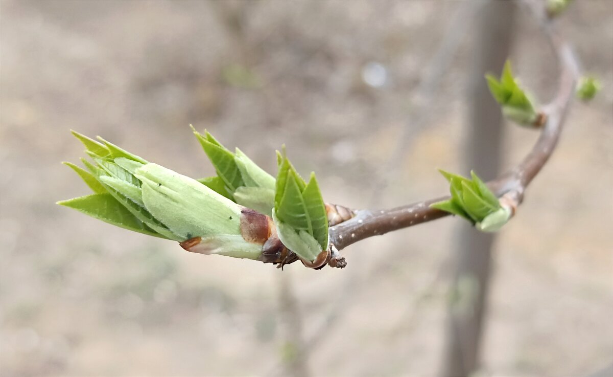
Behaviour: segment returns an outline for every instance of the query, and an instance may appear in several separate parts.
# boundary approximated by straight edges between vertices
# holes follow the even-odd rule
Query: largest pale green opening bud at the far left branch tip
[[[86,169],[72,168],[91,195],[58,204],[118,227],[146,235],[185,241],[194,236],[232,240],[215,254],[257,258],[261,248],[246,243],[240,233],[241,207],[206,185],[131,154],[102,138],[90,139],[75,131],[85,153]]]

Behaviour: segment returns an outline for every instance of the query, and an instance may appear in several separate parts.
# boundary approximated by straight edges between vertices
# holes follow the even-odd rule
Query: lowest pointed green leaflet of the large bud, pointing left
[[[117,227],[137,231],[145,235],[160,236],[158,233],[148,229],[143,222],[132,215],[131,212],[108,193],[80,196],[79,198],[58,201],[58,204],[76,209],[88,216],[116,225]]]

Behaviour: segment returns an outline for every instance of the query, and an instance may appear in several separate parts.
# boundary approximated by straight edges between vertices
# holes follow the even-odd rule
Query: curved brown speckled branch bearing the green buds
[[[578,64],[570,47],[554,26],[550,25],[544,12],[535,11],[535,14],[557,56],[560,71],[558,91],[554,99],[543,107],[543,111],[547,114],[547,123],[530,153],[516,168],[487,182],[493,192],[498,196],[504,195],[516,206],[521,203],[525,189],[541,171],[557,146],[579,74]],[[330,243],[341,250],[361,239],[448,216],[447,212],[430,208],[430,204],[447,198],[435,198],[380,211],[367,209],[357,211],[351,220],[330,227]]]

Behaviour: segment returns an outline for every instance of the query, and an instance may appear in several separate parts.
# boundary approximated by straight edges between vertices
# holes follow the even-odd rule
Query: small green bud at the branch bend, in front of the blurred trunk
[[[443,170],[440,172],[449,182],[451,198],[430,204],[430,207],[464,217],[473,225],[478,225],[478,229],[483,231],[498,230],[504,225],[500,224],[503,215],[493,215],[500,213],[500,210],[503,209],[498,198],[474,171],[470,172],[472,180]],[[508,219],[510,215],[505,222]],[[481,227],[482,223],[485,223],[485,228]]]

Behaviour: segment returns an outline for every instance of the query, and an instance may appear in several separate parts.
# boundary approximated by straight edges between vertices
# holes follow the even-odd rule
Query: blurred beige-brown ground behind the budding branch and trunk
[[[326,201],[351,208],[444,195],[436,168],[467,173],[494,145],[478,169],[492,178],[538,133],[497,128],[481,68],[510,56],[542,103],[557,85],[516,5],[2,0],[0,375],[587,376],[613,363],[608,0],[556,21],[604,90],[574,103],[491,254],[464,254],[480,236],[446,218],[348,247],[345,270],[281,271],[55,204],[88,193],[60,164],[83,156],[71,128],[192,177],[214,171],[189,123],[273,174],[285,143]],[[484,108],[490,136],[474,121]],[[468,284],[459,255],[481,266]],[[482,308],[454,322],[467,285]]]

